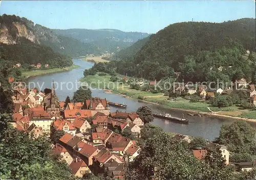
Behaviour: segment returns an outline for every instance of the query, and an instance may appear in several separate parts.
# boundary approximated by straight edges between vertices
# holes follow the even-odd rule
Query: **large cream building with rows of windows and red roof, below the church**
[[[52,117],[49,113],[44,111],[44,108],[38,106],[31,109],[25,109],[24,114],[30,119],[30,125],[34,123],[36,126],[42,127],[43,133],[50,134]]]

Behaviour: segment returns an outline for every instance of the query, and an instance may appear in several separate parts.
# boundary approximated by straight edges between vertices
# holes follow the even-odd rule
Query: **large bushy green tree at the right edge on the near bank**
[[[246,121],[236,121],[222,125],[219,142],[225,144],[232,153],[256,155],[256,130]]]

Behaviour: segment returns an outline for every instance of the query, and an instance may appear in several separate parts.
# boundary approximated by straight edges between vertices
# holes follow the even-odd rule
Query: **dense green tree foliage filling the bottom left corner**
[[[51,159],[50,142],[45,137],[33,139],[8,127],[0,147],[1,178],[74,179],[67,163]]]

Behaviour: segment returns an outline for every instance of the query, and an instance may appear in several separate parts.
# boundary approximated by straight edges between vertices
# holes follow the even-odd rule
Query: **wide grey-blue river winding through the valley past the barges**
[[[56,94],[59,97],[59,101],[65,101],[67,96],[70,96],[70,98],[73,97],[73,92],[75,91],[76,86],[73,85],[72,87],[72,84],[74,84],[75,82],[78,82],[79,79],[83,77],[83,70],[91,68],[93,66],[93,63],[82,61],[80,59],[74,59],[74,64],[79,65],[80,67],[73,69],[71,71],[34,76],[29,78],[28,81],[30,83],[34,83],[39,90],[44,90],[45,88],[51,88],[52,80],[54,80],[54,82],[57,82],[56,84],[59,85],[59,87],[55,87]],[[72,82],[72,83],[68,83],[68,82]],[[63,86],[60,86],[61,83],[63,84]],[[31,87],[33,87],[33,85],[31,85]],[[79,84],[77,84],[77,87],[79,87]],[[152,108],[154,112],[161,112],[161,113],[169,112],[173,116],[178,116],[178,117],[181,117],[182,113],[184,113],[185,116],[187,115],[186,112],[182,112],[178,110],[167,111],[167,109],[164,109],[159,105],[142,102],[137,99],[125,98],[117,94],[105,93],[103,90],[100,90],[100,89],[92,89],[92,96],[106,98],[107,100],[113,101],[113,102],[124,103],[127,105],[127,109],[125,110],[127,112],[137,111],[139,107],[143,105],[147,105],[150,108]],[[115,112],[116,110],[118,110],[118,108],[111,107],[111,112]],[[221,125],[230,124],[234,121],[234,120],[225,119],[222,117],[210,117],[210,116],[204,116],[204,117],[187,116],[187,118],[189,120],[189,124],[179,124],[179,123],[175,123],[172,121],[163,120],[159,118],[155,118],[152,124],[162,127],[163,130],[166,132],[181,133],[181,134],[195,136],[195,137],[201,136],[209,140],[214,140],[215,137],[219,136]],[[256,127],[256,123],[250,122],[250,124]]]

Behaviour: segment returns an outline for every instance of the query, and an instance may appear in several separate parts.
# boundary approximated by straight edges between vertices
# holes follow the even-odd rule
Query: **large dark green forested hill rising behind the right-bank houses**
[[[247,55],[246,50],[250,51]],[[181,72],[180,78],[185,81],[227,81],[243,77],[250,81],[255,75],[253,52],[255,19],[181,22],[151,35],[135,51],[135,56],[131,54],[130,58],[112,64],[117,71],[151,80],[165,78],[174,70]]]

